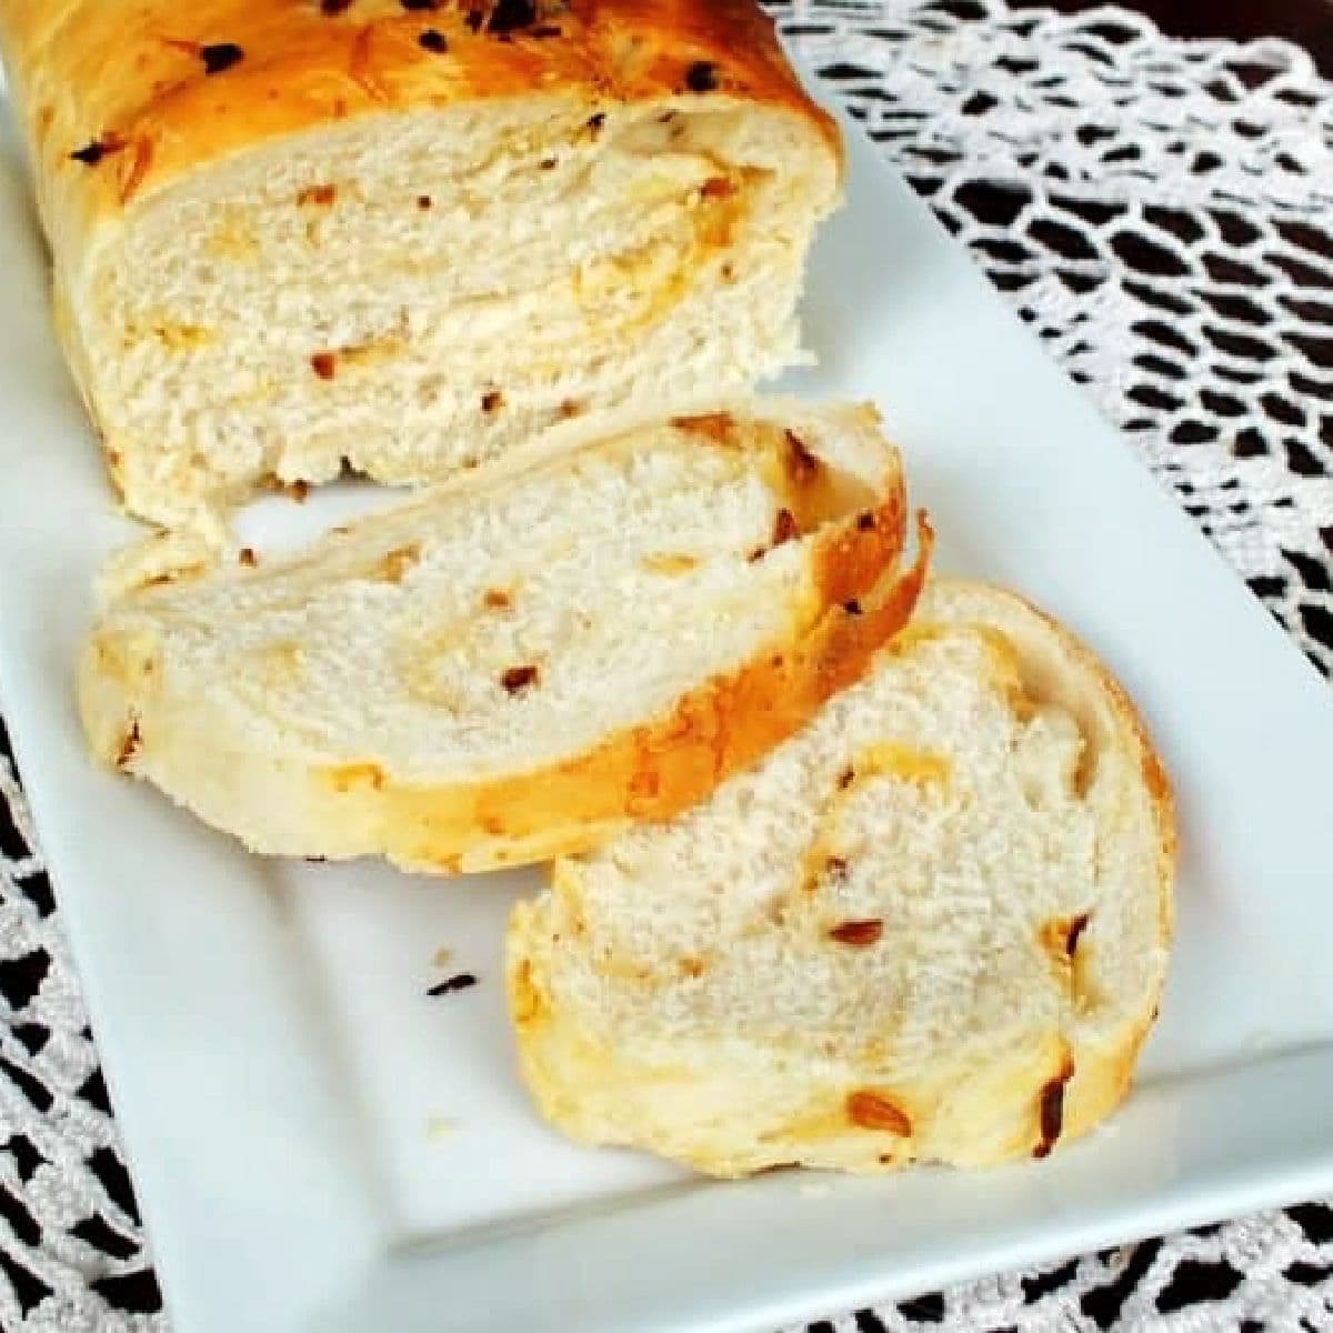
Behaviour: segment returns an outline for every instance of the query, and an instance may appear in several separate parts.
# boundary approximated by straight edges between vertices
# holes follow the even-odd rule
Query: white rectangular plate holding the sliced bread
[[[499,972],[535,872],[261,861],[88,765],[69,664],[128,528],[8,145],[0,689],[179,1333],[772,1329],[1333,1189],[1333,697],[849,136],[808,300],[822,364],[793,387],[877,400],[940,565],[1037,599],[1141,702],[1178,784],[1178,949],[1130,1102],[1049,1161],[732,1185],[529,1109]],[[425,997],[441,946],[477,988]]]

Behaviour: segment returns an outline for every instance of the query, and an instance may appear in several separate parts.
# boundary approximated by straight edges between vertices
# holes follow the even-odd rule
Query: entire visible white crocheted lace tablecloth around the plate
[[[1125,447],[1333,672],[1333,87],[1293,47],[1168,40],[1113,8],[773,9]],[[165,1333],[3,725],[0,1144],[0,1326]],[[1333,1201],[813,1325],[1096,1328],[1333,1329]]]

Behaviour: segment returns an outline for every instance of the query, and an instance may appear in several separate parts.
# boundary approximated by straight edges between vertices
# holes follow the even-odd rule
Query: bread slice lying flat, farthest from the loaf
[[[1124,1097],[1172,932],[1172,798],[1064,629],[941,580],[705,805],[515,909],[553,1124],[716,1176],[1046,1154]]]

